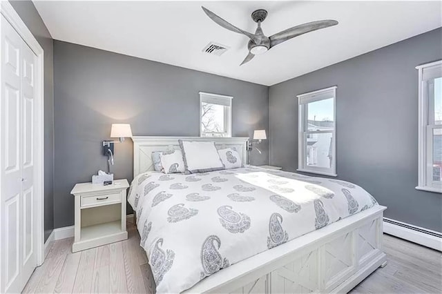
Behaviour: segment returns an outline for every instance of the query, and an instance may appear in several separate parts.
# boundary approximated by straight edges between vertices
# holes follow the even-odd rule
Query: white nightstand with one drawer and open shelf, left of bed
[[[75,238],[72,251],[127,239],[126,179],[112,185],[82,183],[70,191],[75,196]]]

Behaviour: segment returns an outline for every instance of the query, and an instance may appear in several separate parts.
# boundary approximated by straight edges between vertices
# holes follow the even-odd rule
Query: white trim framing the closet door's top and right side
[[[37,266],[40,266],[44,262],[44,51],[8,1],[0,1],[0,13],[37,55],[37,69],[35,70],[37,117],[35,121],[38,121],[38,124],[35,125],[37,144],[35,144],[34,153],[34,179],[35,205],[37,206],[35,215],[37,236],[35,238],[37,239]]]

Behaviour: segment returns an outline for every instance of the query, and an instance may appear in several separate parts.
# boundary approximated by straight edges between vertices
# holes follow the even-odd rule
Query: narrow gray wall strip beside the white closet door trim
[[[52,37],[31,1],[10,1],[44,50],[44,239],[54,228],[54,81]]]

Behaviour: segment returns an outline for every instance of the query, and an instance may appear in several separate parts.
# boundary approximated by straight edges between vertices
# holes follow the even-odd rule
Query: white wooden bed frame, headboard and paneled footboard
[[[153,170],[151,153],[177,149],[178,139],[235,147],[245,164],[248,138],[133,137],[134,177]],[[375,206],[244,259],[185,293],[347,293],[387,264],[382,251],[383,210]]]

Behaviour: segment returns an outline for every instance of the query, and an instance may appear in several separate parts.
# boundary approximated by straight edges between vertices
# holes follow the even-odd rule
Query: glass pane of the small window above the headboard
[[[204,137],[225,137],[227,130],[224,124],[224,108],[218,104],[202,102],[201,104],[201,130]]]

